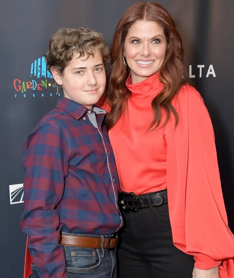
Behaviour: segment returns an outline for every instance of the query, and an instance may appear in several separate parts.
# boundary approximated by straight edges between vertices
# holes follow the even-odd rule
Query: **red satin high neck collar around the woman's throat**
[[[132,83],[131,73],[126,81],[128,90],[132,92],[132,98],[144,99],[157,95],[163,89],[164,85],[159,80],[159,73],[147,77],[140,83]]]

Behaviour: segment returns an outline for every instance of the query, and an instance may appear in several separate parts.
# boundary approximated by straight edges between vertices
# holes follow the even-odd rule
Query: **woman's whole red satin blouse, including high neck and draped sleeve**
[[[121,190],[140,194],[167,187],[175,246],[194,255],[196,267],[219,265],[221,278],[233,278],[234,236],[228,228],[214,132],[202,97],[195,88],[183,86],[172,101],[179,116],[177,127],[172,115],[165,128],[146,133],[152,121],[149,103],[163,85],[157,73],[137,84],[129,81],[133,95],[128,111],[109,131]]]

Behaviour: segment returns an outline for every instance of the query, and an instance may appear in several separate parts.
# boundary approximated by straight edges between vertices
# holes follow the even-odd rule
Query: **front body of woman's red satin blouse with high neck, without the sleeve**
[[[147,131],[152,120],[152,99],[163,89],[156,76],[148,82],[131,84],[127,111],[109,132],[112,140],[121,191],[136,195],[165,189],[166,185],[166,126]],[[163,117],[162,121],[165,121]]]

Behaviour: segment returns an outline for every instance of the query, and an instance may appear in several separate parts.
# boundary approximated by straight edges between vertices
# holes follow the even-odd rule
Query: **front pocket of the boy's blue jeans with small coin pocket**
[[[98,267],[101,257],[98,249],[67,246],[65,260],[67,272],[86,272]]]

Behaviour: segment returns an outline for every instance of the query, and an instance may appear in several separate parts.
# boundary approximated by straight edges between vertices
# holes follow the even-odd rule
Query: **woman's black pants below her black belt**
[[[173,245],[168,204],[122,212],[119,232],[119,278],[192,278],[195,260]]]

